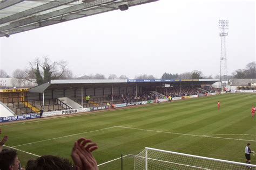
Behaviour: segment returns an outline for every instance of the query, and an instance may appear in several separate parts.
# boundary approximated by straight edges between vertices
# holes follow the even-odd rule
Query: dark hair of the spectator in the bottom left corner
[[[15,158],[17,157],[17,151],[12,149],[5,149],[0,153],[0,169],[9,170],[10,165],[14,165]]]

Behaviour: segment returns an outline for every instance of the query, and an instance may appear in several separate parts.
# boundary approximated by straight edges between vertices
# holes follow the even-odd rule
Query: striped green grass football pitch
[[[220,110],[217,102],[220,101]],[[93,155],[98,165],[136,155],[145,147],[203,157],[245,162],[245,146],[256,151],[256,120],[251,106],[255,94],[224,94],[97,112],[95,114],[35,119],[1,125],[6,146],[17,148],[25,167],[37,155],[58,155],[71,160],[71,148],[80,137],[99,146]],[[25,151],[25,152],[24,152]],[[124,159],[124,169],[133,169],[132,158]],[[252,156],[256,164],[256,156]],[[120,159],[99,166],[120,169]]]

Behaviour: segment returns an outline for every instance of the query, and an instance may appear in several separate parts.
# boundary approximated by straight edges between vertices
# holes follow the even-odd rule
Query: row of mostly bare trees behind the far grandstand
[[[229,79],[256,79],[256,63],[250,62],[244,69],[235,70],[232,75],[228,75]],[[10,77],[5,70],[0,69],[0,77]],[[30,81],[38,85],[49,82],[50,80],[60,79],[129,79],[126,75],[110,74],[107,78],[103,74],[84,75],[81,77],[73,76],[72,71],[68,68],[68,61],[51,61],[47,56],[37,58],[28,63],[25,69],[16,69],[12,73],[12,77],[19,81]],[[219,75],[214,76],[219,79]],[[153,75],[136,75],[134,79],[159,79]],[[164,73],[160,79],[213,79],[212,75],[204,76],[199,70],[185,73]]]

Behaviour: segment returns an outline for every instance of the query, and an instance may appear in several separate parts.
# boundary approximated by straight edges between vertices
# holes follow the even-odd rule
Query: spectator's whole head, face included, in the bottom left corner
[[[1,170],[18,170],[19,168],[18,154],[16,150],[8,149],[0,153],[0,169]]]

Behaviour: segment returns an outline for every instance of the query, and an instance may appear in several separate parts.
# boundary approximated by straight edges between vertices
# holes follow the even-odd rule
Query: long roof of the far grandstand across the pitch
[[[138,84],[139,86],[160,86],[162,84],[213,84],[219,79],[150,79],[150,80],[51,80],[48,83],[30,88],[30,93],[43,93],[45,90],[69,89],[69,88],[102,88],[110,87],[110,84],[118,86],[130,86],[130,84]]]

